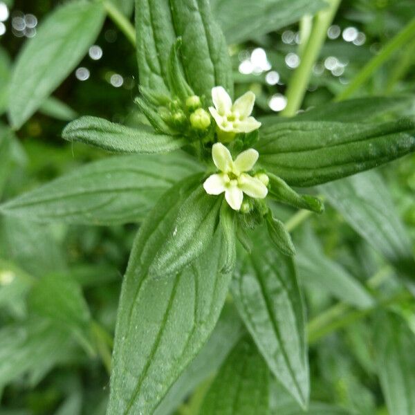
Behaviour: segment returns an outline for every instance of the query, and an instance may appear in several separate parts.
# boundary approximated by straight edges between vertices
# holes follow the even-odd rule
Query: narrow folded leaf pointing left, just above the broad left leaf
[[[62,138],[109,151],[142,154],[165,153],[185,144],[183,138],[158,134],[147,125],[136,129],[89,116],[70,122],[62,131]]]

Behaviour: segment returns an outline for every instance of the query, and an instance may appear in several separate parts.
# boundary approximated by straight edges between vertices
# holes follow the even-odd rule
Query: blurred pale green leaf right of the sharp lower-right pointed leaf
[[[302,284],[358,308],[374,305],[367,289],[340,264],[324,255],[318,239],[311,232],[302,233],[299,240],[295,264]]]

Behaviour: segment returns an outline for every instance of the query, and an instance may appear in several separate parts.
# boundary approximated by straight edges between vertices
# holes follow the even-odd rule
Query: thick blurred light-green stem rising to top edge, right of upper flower
[[[318,12],[313,21],[310,37],[304,49],[301,62],[293,73],[290,83],[288,84],[286,98],[287,106],[281,115],[285,117],[295,116],[302,104],[302,100],[306,93],[308,82],[311,77],[313,65],[317,60],[320,49],[324,44],[329,28],[335,12],[337,12],[341,0],[329,0],[328,8]]]

